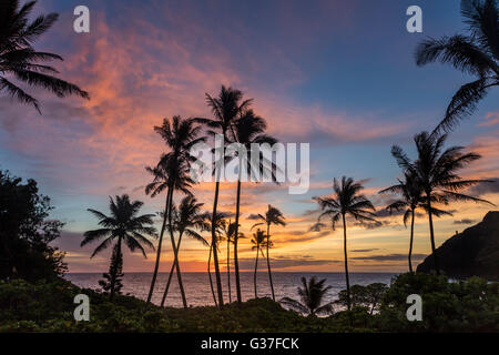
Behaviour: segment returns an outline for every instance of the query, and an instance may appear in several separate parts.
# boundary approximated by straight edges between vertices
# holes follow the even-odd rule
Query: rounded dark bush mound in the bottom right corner
[[[422,298],[422,321],[408,322],[409,294]],[[378,326],[390,332],[499,332],[499,283],[478,277],[450,282],[444,275],[401,274],[381,303]]]

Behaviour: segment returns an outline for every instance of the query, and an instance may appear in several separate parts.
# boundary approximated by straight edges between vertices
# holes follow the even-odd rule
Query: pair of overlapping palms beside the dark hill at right
[[[381,190],[380,193],[397,193],[397,200],[387,206],[387,210],[404,212],[404,223],[410,217],[410,242],[409,242],[409,271],[413,272],[411,253],[414,241],[414,221],[416,209],[422,209],[428,215],[431,253],[434,255],[435,271],[439,273],[438,256],[435,247],[434,216],[451,214],[438,209],[436,205],[447,205],[451,201],[472,201],[477,203],[490,202],[462,193],[464,190],[479,183],[489,182],[479,179],[462,179],[458,171],[469,163],[480,159],[472,152],[464,152],[464,146],[451,146],[444,149],[447,134],[438,134],[437,131],[429,134],[421,132],[414,138],[418,156],[410,160],[404,150],[394,145],[391,154],[398,165],[403,169],[404,180],[398,184]]]

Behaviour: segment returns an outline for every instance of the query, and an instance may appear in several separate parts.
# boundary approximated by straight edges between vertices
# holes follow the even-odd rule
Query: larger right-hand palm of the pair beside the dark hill
[[[436,247],[432,220],[436,209],[432,204],[448,204],[449,201],[472,201],[491,204],[486,200],[460,193],[460,191],[470,186],[482,182],[489,182],[487,180],[478,179],[464,180],[458,175],[459,170],[480,159],[480,155],[476,153],[464,153],[464,146],[451,146],[444,150],[446,140],[447,134],[440,136],[428,134],[428,132],[416,134],[414,141],[416,143],[418,159],[415,162],[409,160],[400,146],[394,145],[391,148],[391,154],[397,160],[398,165],[408,174],[415,176],[424,191],[430,229],[431,253],[434,255],[435,270],[437,273],[439,273],[439,267],[437,254],[435,253]]]

